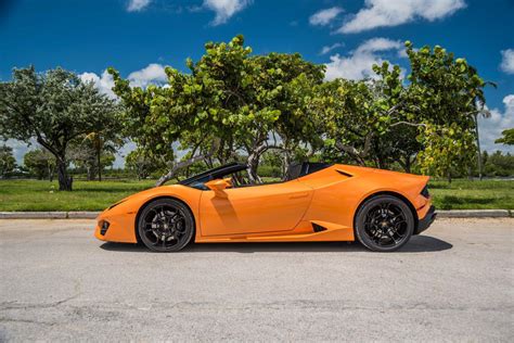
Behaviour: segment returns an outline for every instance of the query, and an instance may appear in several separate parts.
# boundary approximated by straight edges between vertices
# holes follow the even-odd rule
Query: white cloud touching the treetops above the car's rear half
[[[331,62],[326,63],[325,78],[332,80],[343,77],[347,79],[363,79],[375,77],[372,69],[373,64],[382,64],[384,61],[377,52],[401,49],[401,42],[387,38],[372,38],[364,41],[348,56],[339,54],[332,55]]]

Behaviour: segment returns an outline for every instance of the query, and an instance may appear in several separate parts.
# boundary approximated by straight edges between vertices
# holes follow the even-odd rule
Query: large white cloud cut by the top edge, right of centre
[[[433,22],[465,7],[464,0],[365,0],[365,8],[337,31],[355,34],[376,27],[397,26],[416,18]]]

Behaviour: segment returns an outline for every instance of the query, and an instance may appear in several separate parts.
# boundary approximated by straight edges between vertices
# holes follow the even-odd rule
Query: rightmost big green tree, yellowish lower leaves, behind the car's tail
[[[419,154],[422,172],[436,176],[465,173],[477,151],[476,115],[484,113],[486,82],[464,59],[441,47],[414,50],[406,42],[411,64],[407,111],[422,124]]]

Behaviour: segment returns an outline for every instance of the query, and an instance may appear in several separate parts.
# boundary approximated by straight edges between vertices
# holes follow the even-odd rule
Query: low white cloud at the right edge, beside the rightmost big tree
[[[513,152],[512,147],[494,143],[494,140],[502,136],[501,132],[503,130],[514,128],[514,94],[503,98],[503,104],[505,106],[504,112],[493,109],[490,111],[490,117],[478,117],[478,134],[483,151],[493,152],[501,150],[503,152]]]

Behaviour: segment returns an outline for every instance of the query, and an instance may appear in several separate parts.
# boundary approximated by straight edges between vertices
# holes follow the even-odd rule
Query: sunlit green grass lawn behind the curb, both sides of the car
[[[73,192],[56,191],[57,183],[38,180],[0,180],[0,211],[101,211],[114,202],[151,188],[144,181],[75,181]],[[514,209],[514,181],[431,181],[440,209]]]

